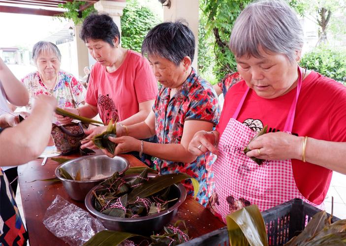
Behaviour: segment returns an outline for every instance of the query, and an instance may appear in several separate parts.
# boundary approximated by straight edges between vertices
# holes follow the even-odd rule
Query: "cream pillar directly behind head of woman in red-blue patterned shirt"
[[[197,55],[198,55],[198,21],[199,21],[199,6],[198,0],[170,0],[171,7],[163,6],[163,20],[175,21],[185,19],[189,28],[192,30],[195,37],[195,52],[192,66],[198,70]]]

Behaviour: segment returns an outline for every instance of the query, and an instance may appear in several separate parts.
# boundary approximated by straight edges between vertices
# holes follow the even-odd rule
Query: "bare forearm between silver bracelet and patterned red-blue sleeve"
[[[192,162],[196,159],[189,153],[182,144],[155,144],[143,142],[143,153],[156,156],[157,158],[177,161],[177,162]]]

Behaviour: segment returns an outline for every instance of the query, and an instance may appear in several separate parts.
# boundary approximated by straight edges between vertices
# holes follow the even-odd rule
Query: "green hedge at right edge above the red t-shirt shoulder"
[[[305,54],[300,65],[346,85],[346,50],[319,46]]]

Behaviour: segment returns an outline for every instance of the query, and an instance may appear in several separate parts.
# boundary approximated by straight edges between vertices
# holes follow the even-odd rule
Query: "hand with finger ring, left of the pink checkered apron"
[[[197,131],[189,144],[189,153],[195,156],[204,154],[207,151],[213,154],[219,154],[216,148],[218,142],[218,131]]]

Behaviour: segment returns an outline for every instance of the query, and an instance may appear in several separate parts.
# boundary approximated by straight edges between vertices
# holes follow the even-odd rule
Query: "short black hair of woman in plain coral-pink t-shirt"
[[[114,47],[113,40],[120,32],[112,17],[106,14],[92,14],[83,21],[80,38],[87,43],[88,39],[101,39]]]

